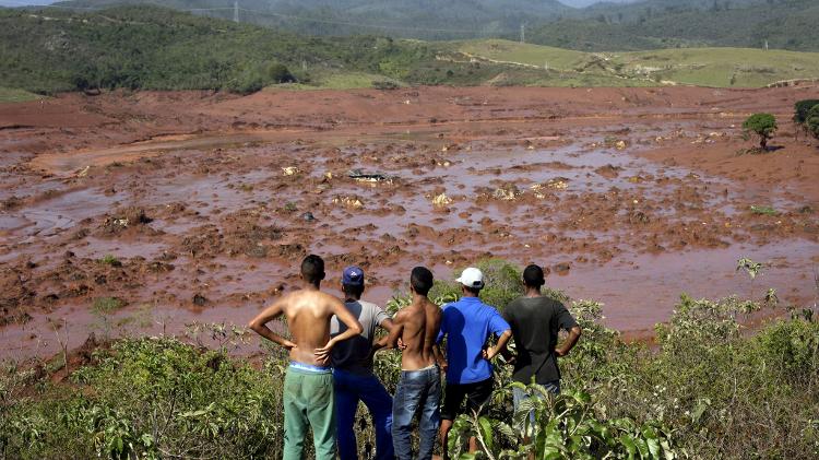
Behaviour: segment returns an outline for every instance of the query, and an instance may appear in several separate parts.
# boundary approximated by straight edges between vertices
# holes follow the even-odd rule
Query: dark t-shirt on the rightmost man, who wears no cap
[[[560,379],[555,358],[557,333],[578,326],[566,306],[549,297],[521,297],[503,311],[518,349],[512,378],[522,384],[545,385]]]

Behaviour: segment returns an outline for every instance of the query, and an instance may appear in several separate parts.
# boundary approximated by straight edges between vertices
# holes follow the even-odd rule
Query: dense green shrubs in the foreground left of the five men
[[[16,401],[0,447],[21,459],[276,458],[278,377],[174,339],[120,341],[73,386]]]

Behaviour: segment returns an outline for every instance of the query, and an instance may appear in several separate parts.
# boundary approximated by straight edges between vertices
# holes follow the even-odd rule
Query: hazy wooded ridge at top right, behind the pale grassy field
[[[527,40],[589,51],[691,46],[819,50],[817,0],[650,0],[598,4],[531,27]]]

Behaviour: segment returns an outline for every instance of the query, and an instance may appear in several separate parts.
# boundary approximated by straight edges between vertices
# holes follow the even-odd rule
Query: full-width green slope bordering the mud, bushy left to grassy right
[[[817,76],[819,54],[807,52],[689,48],[600,54],[499,39],[324,38],[144,5],[91,12],[0,10],[0,102],[35,97],[29,93],[105,89],[741,87]]]

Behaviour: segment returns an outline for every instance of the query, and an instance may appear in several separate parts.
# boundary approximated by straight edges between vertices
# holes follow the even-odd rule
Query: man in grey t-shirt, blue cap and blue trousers
[[[344,342],[339,342],[332,351],[333,381],[335,384],[335,412],[341,460],[358,458],[355,433],[356,410],[363,401],[372,415],[376,428],[376,459],[392,459],[392,397],[372,373],[372,355],[380,347],[373,344],[376,329],[388,332],[392,329],[390,316],[381,307],[361,300],[364,293],[364,270],[347,267],[342,273],[344,306],[358,319],[364,331]],[[330,334],[336,335],[346,330],[336,317],[330,322]]]

